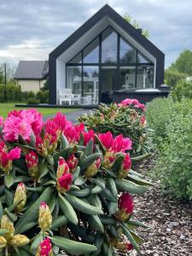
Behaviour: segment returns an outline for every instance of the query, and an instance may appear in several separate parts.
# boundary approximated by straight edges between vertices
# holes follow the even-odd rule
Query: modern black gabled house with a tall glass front
[[[167,94],[165,55],[105,5],[49,54],[49,102],[97,105]],[[143,97],[143,98],[141,98]]]

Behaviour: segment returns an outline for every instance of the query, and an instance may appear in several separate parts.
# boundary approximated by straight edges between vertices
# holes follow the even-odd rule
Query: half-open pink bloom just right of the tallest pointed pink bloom
[[[68,143],[78,143],[81,132],[84,131],[84,124],[69,126],[64,135],[67,137]]]

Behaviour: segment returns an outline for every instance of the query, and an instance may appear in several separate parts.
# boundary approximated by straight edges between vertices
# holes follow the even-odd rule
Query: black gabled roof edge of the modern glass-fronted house
[[[148,38],[144,37],[141,30],[131,26],[121,15],[119,15],[114,9],[112,9],[108,4],[104,5],[102,9],[98,10],[95,15],[90,17],[78,30],[73,32],[73,34],[68,37],[63,43],[56,47],[50,54],[50,57],[58,57],[64,51],[66,51],[72,44],[74,44],[80,37],[82,37],[86,32],[88,32],[91,27],[95,26],[103,18],[108,17],[113,20],[118,26],[120,26],[125,32],[127,32],[133,39],[137,41],[138,44],[143,45],[145,49],[151,55],[160,56],[164,58],[163,52],[160,51],[154,44],[152,44]]]

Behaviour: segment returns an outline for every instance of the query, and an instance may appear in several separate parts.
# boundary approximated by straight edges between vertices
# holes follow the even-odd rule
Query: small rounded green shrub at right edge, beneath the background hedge
[[[192,82],[180,81],[172,88],[174,100],[181,101],[183,97],[192,99]]]

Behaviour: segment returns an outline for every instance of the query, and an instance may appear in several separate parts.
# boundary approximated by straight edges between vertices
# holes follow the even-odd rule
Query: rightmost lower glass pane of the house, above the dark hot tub
[[[137,67],[137,88],[154,88],[154,67]]]

